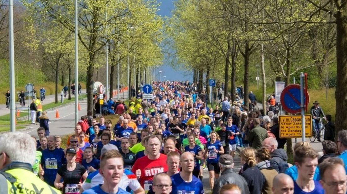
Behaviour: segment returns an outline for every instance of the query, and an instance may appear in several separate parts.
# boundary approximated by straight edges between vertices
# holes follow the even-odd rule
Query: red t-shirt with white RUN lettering
[[[142,188],[145,189],[146,193],[152,186],[153,176],[158,173],[163,173],[168,171],[168,166],[166,164],[167,156],[160,154],[158,159],[151,160],[148,156],[144,156],[136,160],[132,172],[136,174],[136,170],[141,170],[141,176],[139,182]]]

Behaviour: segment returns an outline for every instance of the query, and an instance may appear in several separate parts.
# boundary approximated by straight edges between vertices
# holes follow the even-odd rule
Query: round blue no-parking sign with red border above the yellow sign
[[[307,93],[307,91],[306,91]],[[307,96],[307,99],[306,99]],[[306,103],[307,100],[307,103]],[[304,104],[308,105],[310,102],[310,96],[305,95],[304,91]],[[300,99],[300,85],[291,84],[285,87],[281,93],[281,105],[288,113],[296,114],[301,111],[301,99]]]

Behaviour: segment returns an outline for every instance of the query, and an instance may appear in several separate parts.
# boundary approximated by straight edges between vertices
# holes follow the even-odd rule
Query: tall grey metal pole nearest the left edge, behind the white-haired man
[[[15,48],[13,38],[13,0],[9,1],[9,57],[10,57],[10,131],[16,131],[16,107],[15,107]]]

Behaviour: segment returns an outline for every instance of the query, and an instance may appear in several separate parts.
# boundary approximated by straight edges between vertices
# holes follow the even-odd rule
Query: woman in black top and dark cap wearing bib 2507
[[[84,166],[75,162],[76,151],[73,148],[66,150],[67,164],[58,169],[54,186],[62,190],[63,194],[78,194],[82,186],[82,179],[85,180],[88,173]],[[61,178],[63,183],[60,182]]]

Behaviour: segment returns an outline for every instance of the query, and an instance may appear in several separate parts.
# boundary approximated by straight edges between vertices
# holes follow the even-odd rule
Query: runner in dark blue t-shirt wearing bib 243
[[[47,147],[42,151],[41,166],[44,171],[43,179],[47,184],[54,186],[58,168],[66,163],[65,154],[61,149],[56,148],[57,138],[50,135],[47,138]]]

